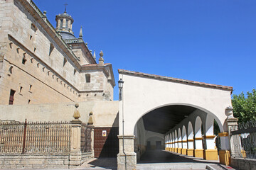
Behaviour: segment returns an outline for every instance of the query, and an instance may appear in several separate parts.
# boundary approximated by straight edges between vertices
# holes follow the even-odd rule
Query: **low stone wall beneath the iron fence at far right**
[[[241,170],[256,169],[256,159],[232,158],[231,166]]]

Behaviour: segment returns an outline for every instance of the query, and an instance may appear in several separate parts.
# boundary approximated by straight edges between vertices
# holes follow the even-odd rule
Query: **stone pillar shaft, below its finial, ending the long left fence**
[[[75,168],[81,164],[81,120],[71,121],[71,150],[70,150],[70,168]]]

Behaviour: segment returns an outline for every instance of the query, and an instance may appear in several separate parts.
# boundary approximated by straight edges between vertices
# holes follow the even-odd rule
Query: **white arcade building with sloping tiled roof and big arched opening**
[[[146,149],[229,164],[229,123],[237,121],[232,119],[232,87],[122,69],[119,79],[124,84],[119,101],[118,169],[136,169]],[[214,120],[220,131],[219,152]]]

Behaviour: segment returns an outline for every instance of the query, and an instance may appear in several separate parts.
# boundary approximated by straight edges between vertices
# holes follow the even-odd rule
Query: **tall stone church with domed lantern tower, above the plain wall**
[[[113,100],[112,64],[92,55],[82,27],[75,38],[72,16],[58,14],[53,28],[36,5],[1,4],[1,105]]]

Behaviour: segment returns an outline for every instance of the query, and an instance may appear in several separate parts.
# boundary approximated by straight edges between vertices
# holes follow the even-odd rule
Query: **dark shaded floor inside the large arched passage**
[[[218,161],[206,161],[205,159],[188,157],[183,154],[177,154],[174,152],[168,152],[165,150],[147,150],[141,157],[138,164],[148,163],[210,163],[218,164]]]

